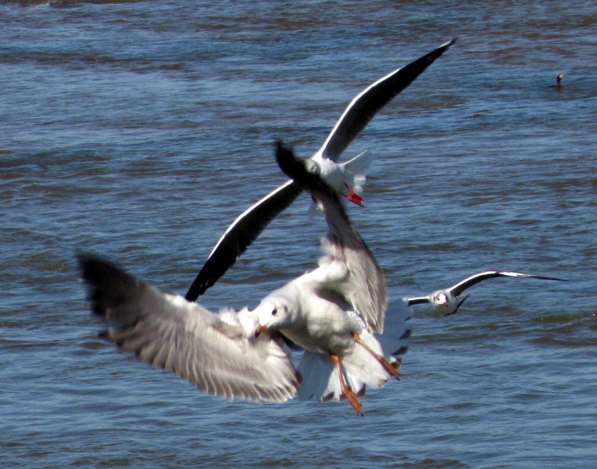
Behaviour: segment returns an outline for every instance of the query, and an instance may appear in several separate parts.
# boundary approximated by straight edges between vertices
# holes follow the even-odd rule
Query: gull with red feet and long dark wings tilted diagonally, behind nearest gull
[[[358,155],[346,163],[337,163],[341,154],[383,106],[408,87],[435,59],[441,56],[456,39],[442,44],[407,66],[396,69],[361,91],[347,106],[334,125],[324,144],[307,165],[318,171],[328,185],[348,200],[362,205],[361,185],[368,165],[368,154]],[[205,290],[230,268],[266,226],[285,210],[303,191],[300,184],[288,180],[261,200],[242,212],[226,229],[211,251],[203,268],[193,281],[185,298],[196,301]],[[348,194],[345,194],[345,191]]]

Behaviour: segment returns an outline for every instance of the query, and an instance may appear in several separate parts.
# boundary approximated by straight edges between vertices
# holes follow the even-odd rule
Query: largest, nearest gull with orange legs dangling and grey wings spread
[[[278,161],[324,211],[330,232],[318,268],[253,311],[214,313],[106,260],[79,255],[91,310],[107,325],[101,338],[207,393],[251,401],[346,398],[362,414],[365,387],[398,376],[411,310],[402,299],[388,305],[381,269],[336,191],[281,145]],[[304,350],[296,369],[288,344]]]

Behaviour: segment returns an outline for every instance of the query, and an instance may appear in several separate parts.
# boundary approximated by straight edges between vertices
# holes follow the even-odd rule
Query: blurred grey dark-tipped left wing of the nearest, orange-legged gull
[[[79,256],[79,267],[91,310],[109,326],[101,337],[121,350],[228,399],[284,401],[297,393],[300,379],[281,342],[255,339],[238,315],[162,293],[101,259]]]

